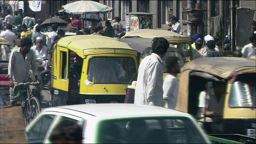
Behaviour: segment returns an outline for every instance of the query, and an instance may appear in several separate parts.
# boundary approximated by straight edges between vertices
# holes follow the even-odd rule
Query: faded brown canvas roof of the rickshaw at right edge
[[[248,68],[246,71],[256,72],[256,60],[252,58],[235,58],[235,57],[211,57],[197,58],[187,62],[182,68],[182,72],[186,70],[195,70],[207,72],[214,76],[228,79],[238,72],[241,68]]]

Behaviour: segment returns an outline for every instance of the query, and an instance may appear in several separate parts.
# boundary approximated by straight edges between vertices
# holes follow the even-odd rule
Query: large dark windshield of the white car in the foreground
[[[184,117],[107,120],[99,126],[102,144],[206,143],[196,125]]]

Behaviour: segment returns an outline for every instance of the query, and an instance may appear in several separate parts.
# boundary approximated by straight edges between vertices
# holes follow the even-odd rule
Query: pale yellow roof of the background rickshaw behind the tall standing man
[[[126,32],[126,34],[122,38],[134,37],[134,36],[138,36],[142,38],[164,37],[168,41],[184,40],[184,41],[191,42],[189,37],[183,36],[176,32],[171,32],[169,30],[154,30],[154,29],[141,29],[141,30]]]

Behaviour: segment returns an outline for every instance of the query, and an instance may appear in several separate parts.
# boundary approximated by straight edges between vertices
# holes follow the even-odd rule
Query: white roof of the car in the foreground
[[[150,116],[186,116],[190,115],[177,110],[171,110],[159,106],[136,104],[78,104],[48,108],[45,111],[61,112],[74,110],[100,118],[131,118]]]

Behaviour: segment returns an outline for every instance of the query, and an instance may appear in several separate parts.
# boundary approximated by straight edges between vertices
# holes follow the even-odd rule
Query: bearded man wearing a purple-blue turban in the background
[[[192,44],[192,48],[194,48],[197,52],[199,52],[203,57],[207,57],[208,48],[203,46],[203,36],[202,34],[196,33],[193,36],[194,46]]]

